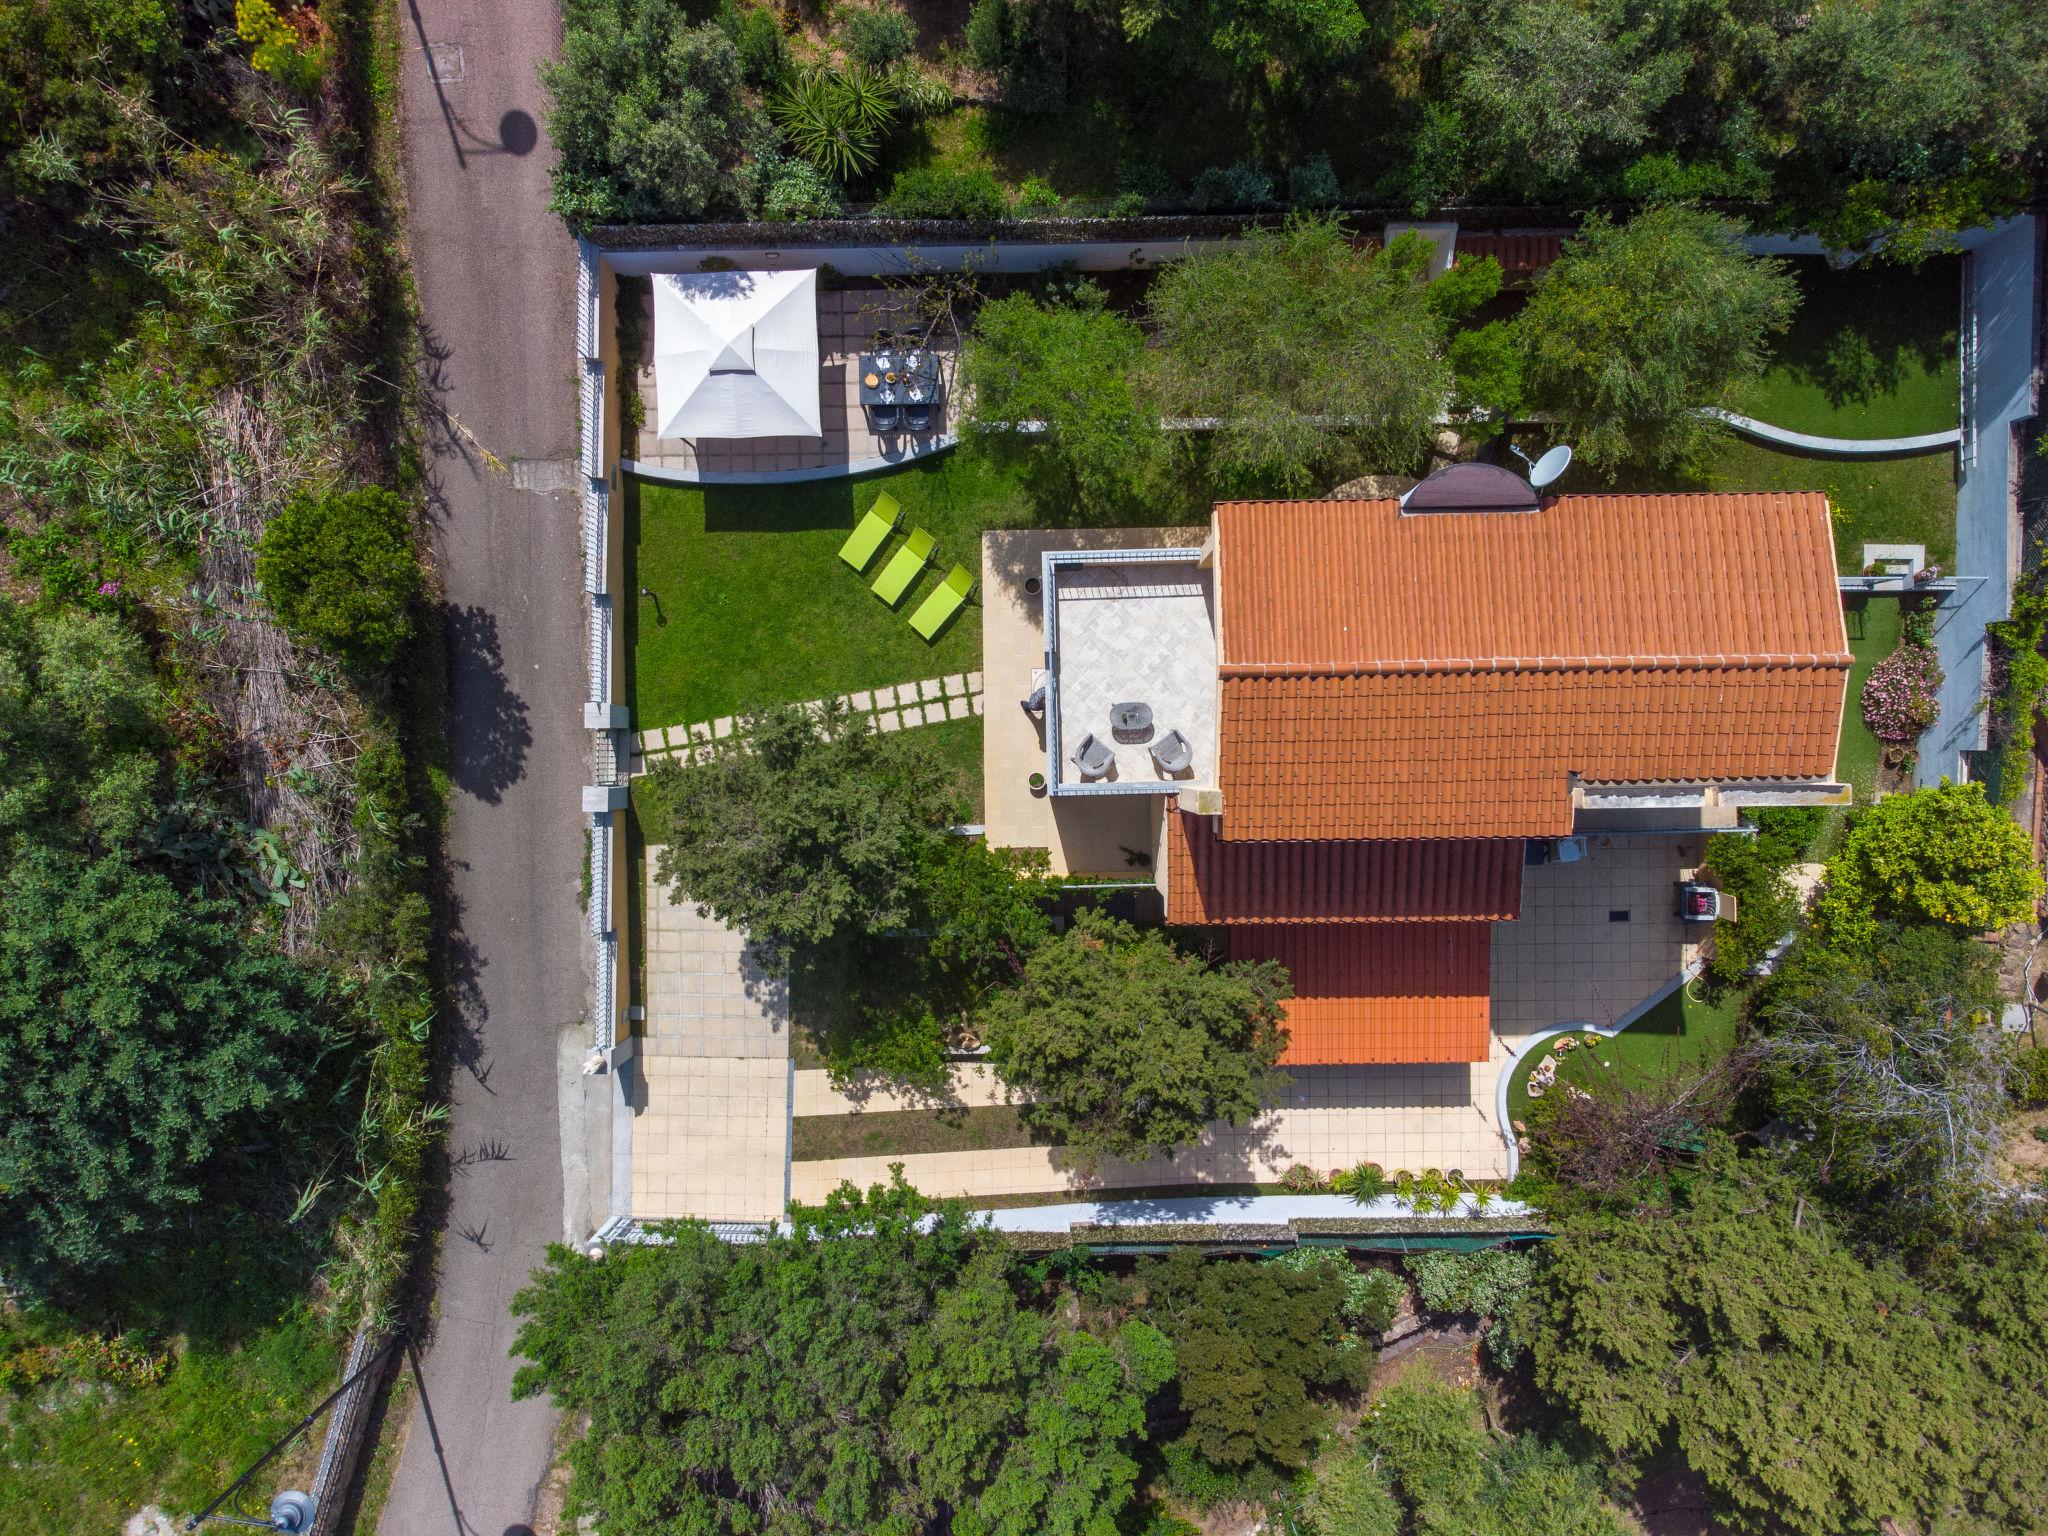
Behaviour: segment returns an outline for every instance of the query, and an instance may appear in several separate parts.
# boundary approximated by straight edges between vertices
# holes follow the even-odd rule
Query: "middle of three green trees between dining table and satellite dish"
[[[1296,217],[1192,252],[1151,289],[1167,416],[1217,422],[1225,483],[1292,492],[1421,461],[1450,403],[1427,248],[1362,252]]]

